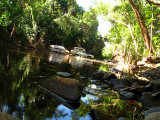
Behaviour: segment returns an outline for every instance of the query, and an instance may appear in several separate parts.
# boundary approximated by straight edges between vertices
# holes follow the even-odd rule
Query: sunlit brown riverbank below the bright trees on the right
[[[142,59],[141,61],[136,62],[136,64],[129,64],[129,63],[123,63],[122,61],[116,61],[116,60],[108,60],[108,61],[102,61],[102,60],[92,60],[94,63],[102,63],[106,65],[111,65],[111,67],[115,68],[115,71],[112,71],[114,73],[117,73],[118,71],[123,73],[132,74],[138,79],[150,81],[152,79],[157,78],[150,78],[148,74],[150,72],[150,76],[158,76],[160,72],[157,71],[160,67],[160,58],[159,57],[146,57]],[[147,72],[148,71],[148,72]],[[156,72],[157,71],[157,72]]]

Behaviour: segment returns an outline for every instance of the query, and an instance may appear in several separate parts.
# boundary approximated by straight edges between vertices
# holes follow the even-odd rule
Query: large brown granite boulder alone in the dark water
[[[49,78],[41,86],[69,101],[78,101],[82,93],[82,85],[73,78]]]

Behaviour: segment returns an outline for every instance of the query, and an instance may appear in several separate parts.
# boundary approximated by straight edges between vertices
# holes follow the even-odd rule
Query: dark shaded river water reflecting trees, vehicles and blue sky
[[[8,46],[1,46],[0,54],[0,112],[21,120],[92,119],[87,106],[97,95],[83,93],[79,107],[68,107],[41,89],[39,82],[56,76],[57,72],[67,72],[83,87],[95,87],[89,79],[92,73],[98,69],[108,70],[108,66],[78,57]]]

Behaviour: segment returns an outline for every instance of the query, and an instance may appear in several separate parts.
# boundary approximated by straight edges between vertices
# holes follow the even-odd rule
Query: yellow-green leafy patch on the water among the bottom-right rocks
[[[113,95],[101,96],[101,98],[98,100],[98,103],[92,106],[95,106],[94,109],[96,110],[105,111],[102,114],[102,118],[105,116],[107,117],[111,116],[112,118],[110,119],[113,118],[116,119],[120,117],[125,117],[128,118],[129,120],[142,119],[139,103],[133,102],[132,104],[130,104],[129,101],[127,102],[120,99],[116,99],[116,93],[114,93],[114,96]],[[138,114],[139,116],[135,116],[136,114]]]

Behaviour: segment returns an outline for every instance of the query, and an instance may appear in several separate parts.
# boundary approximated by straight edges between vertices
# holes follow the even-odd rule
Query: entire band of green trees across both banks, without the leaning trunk
[[[144,0],[136,3],[150,35],[152,29],[151,38],[158,52],[160,8]],[[106,36],[115,48],[121,46],[120,52],[126,56],[131,53],[133,58],[143,57],[146,50],[141,29],[130,3],[125,0],[114,7],[101,2],[89,12],[75,0],[1,0],[1,40],[41,49],[50,44],[63,45],[69,50],[81,46],[96,58],[102,58],[103,49],[103,56],[110,58],[113,50],[104,48],[103,38],[97,33],[100,14],[112,24]]]

